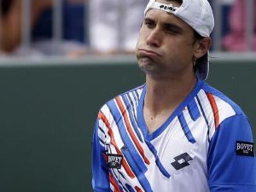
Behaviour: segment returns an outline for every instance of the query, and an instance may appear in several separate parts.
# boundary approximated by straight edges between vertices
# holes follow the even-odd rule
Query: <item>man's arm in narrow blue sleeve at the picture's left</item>
[[[92,143],[92,187],[95,192],[109,192],[108,167],[103,157],[103,153],[105,153],[105,151],[103,146],[100,144],[98,131],[99,122],[97,119]]]

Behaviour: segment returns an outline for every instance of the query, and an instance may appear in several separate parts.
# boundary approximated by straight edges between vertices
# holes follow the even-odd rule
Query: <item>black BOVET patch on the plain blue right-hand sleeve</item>
[[[239,156],[254,157],[254,143],[236,141],[236,154]]]

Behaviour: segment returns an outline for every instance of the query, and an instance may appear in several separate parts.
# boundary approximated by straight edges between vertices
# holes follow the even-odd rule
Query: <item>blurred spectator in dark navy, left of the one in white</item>
[[[54,7],[45,9],[32,31],[33,47],[44,54],[77,57],[88,50],[87,14],[88,0],[62,0],[61,41],[54,38]]]

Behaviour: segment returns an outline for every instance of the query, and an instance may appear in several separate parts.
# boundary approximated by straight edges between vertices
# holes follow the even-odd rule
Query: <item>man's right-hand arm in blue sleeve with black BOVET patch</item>
[[[224,120],[211,138],[208,183],[215,191],[256,191],[252,130],[245,115]]]

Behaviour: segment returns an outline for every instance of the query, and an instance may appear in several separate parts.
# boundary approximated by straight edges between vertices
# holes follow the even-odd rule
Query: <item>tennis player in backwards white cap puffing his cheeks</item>
[[[256,191],[249,120],[205,83],[213,27],[207,0],[148,2],[136,48],[146,83],[98,113],[94,191]]]

